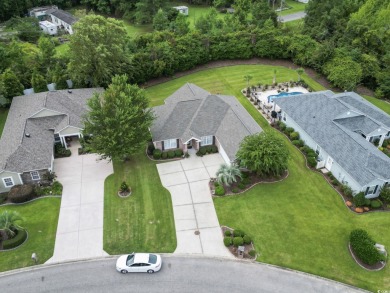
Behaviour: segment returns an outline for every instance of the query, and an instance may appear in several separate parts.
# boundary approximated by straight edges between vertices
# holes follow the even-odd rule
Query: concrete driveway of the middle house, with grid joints
[[[210,177],[215,177],[224,162],[219,154],[211,154],[157,165],[162,185],[172,196],[177,237],[174,253],[233,257],[223,244],[208,187]]]

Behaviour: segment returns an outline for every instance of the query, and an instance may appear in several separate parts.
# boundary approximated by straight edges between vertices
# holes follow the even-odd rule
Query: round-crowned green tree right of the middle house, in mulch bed
[[[267,131],[245,137],[236,157],[241,167],[259,175],[280,176],[287,170],[289,152],[281,137]]]

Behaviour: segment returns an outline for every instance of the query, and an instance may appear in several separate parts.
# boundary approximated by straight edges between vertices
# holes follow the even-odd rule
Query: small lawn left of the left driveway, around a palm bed
[[[39,264],[53,256],[60,204],[60,198],[42,198],[23,205],[0,206],[0,212],[17,211],[24,219],[20,225],[28,232],[27,242],[22,246],[0,251],[0,271],[33,265],[33,252]]]

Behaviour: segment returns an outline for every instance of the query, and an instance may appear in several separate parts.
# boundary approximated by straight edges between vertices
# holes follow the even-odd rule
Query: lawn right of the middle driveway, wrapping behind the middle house
[[[152,105],[163,100],[185,82],[195,83],[211,93],[234,95],[267,131],[265,119],[240,93],[244,75],[253,76],[251,84],[296,80],[294,70],[264,65],[241,65],[205,70],[147,88]],[[304,80],[316,90],[324,89],[307,76]],[[383,105],[382,105],[383,106]],[[304,165],[304,158],[286,139],[292,158],[289,177],[274,184],[263,184],[241,196],[215,199],[221,225],[240,228],[250,234],[258,261],[309,272],[370,290],[390,287],[388,267],[367,272],[351,258],[347,249],[352,229],[366,229],[379,243],[390,247],[390,215],[371,213],[355,215],[324,178]]]

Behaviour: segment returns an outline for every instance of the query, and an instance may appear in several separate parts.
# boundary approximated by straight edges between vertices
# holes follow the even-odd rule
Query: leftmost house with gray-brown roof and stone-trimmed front
[[[38,183],[53,169],[55,142],[80,137],[87,100],[101,88],[60,90],[14,97],[0,139],[0,192]]]

